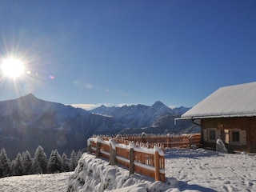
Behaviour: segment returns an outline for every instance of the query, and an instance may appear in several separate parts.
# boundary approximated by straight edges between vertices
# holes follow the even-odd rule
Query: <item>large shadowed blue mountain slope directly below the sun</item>
[[[0,102],[0,149],[14,158],[18,152],[34,154],[42,146],[49,156],[51,150],[70,154],[86,147],[86,138],[97,130],[109,130],[114,118],[61,103],[46,102],[33,94]]]

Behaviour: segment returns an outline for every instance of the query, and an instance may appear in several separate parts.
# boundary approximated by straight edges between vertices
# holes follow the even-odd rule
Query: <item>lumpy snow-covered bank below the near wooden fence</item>
[[[94,155],[83,154],[70,177],[68,191],[160,191],[177,186],[176,179],[170,180],[162,183],[139,174],[129,175],[129,170],[123,167],[110,166]]]

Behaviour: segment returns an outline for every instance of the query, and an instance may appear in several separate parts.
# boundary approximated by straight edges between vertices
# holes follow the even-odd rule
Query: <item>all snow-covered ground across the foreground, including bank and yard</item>
[[[109,166],[90,154],[82,155],[75,172],[0,178],[0,191],[8,192],[66,191],[68,185],[74,191],[97,192],[256,191],[256,156],[203,149],[166,150],[166,183],[138,174],[129,177],[128,170]]]

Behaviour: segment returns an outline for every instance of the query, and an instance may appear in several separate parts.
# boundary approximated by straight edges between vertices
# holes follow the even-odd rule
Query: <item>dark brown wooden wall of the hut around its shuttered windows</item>
[[[256,117],[251,118],[206,118],[201,119],[202,125],[202,146],[216,149],[216,141],[209,141],[206,138],[207,131],[210,129],[217,130],[217,137],[220,137],[225,143],[229,151],[246,151],[256,153]],[[238,143],[228,142],[230,135],[227,135],[230,130],[240,130],[240,135],[243,137]],[[216,138],[215,140],[217,140]],[[245,140],[245,141],[244,141]]]

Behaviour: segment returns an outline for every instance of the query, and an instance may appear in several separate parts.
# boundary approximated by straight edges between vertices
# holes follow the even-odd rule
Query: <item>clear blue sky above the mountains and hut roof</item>
[[[253,0],[0,0],[0,101],[194,106],[256,80]]]

